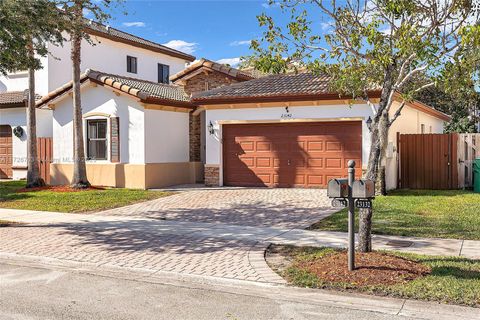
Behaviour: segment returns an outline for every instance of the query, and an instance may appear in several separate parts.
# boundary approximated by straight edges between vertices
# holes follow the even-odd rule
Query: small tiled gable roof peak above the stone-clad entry
[[[173,76],[170,77],[170,80],[172,82],[177,82],[180,80],[187,80],[194,75],[196,75],[198,72],[201,71],[217,71],[225,74],[226,76],[229,76],[231,78],[235,78],[239,81],[248,81],[255,79],[253,75],[251,75],[248,72],[244,72],[242,70],[236,69],[229,67],[225,64],[221,64],[218,62],[214,62],[211,60],[207,60],[205,58],[200,59],[197,62],[192,63],[189,65],[187,68],[184,70],[174,74]]]

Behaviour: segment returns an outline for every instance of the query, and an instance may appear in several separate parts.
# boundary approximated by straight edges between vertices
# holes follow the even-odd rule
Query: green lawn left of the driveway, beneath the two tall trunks
[[[17,192],[25,181],[0,182],[0,208],[57,212],[94,212],[169,195],[167,192],[105,189],[79,192]]]

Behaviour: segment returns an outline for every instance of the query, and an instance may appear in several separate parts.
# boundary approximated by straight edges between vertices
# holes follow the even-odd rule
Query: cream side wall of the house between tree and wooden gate
[[[390,117],[400,107],[399,102],[394,102],[390,110]],[[418,134],[422,133],[422,124],[424,133],[443,133],[445,122],[439,118],[433,117],[420,110],[405,106],[401,115],[395,120],[389,130],[388,147],[385,158],[386,187],[387,190],[397,188],[398,182],[398,145],[397,133]]]

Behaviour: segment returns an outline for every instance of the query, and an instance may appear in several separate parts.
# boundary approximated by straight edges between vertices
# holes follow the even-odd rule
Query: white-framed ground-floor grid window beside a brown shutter
[[[107,120],[87,120],[87,158],[107,160]]]

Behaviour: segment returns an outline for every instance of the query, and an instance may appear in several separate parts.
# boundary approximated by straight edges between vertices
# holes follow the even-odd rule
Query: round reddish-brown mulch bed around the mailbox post
[[[323,281],[355,286],[393,285],[425,276],[431,271],[417,262],[381,252],[357,252],[355,266],[353,272],[348,271],[346,251],[297,264],[298,268],[315,274]]]

